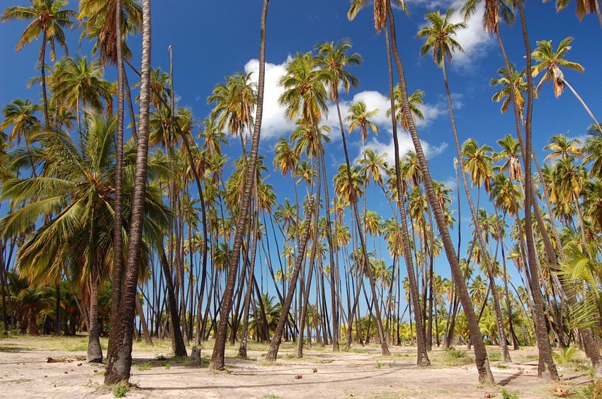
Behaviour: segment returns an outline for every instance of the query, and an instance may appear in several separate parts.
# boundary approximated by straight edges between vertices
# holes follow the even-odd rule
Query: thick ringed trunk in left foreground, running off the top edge
[[[136,173],[130,238],[127,245],[127,263],[118,315],[113,320],[119,323],[115,340],[110,342],[105,383],[113,384],[130,379],[132,366],[132,334],[134,328],[135,296],[137,289],[140,252],[142,248],[142,221],[144,219],[144,197],[147,187],[149,151],[149,107],[151,71],[151,6],[150,0],[142,0],[142,81],[140,87],[140,132],[136,151]]]

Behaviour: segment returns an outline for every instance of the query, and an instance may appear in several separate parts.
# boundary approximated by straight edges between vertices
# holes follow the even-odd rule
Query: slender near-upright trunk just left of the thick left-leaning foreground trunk
[[[393,64],[391,61],[391,43],[389,28],[385,26],[385,41],[387,44],[387,65],[389,70],[389,92],[393,93]],[[428,359],[426,351],[426,337],[424,336],[424,328],[422,323],[422,310],[420,307],[418,284],[416,283],[416,274],[414,272],[414,262],[412,261],[411,247],[409,245],[409,231],[407,224],[406,207],[404,203],[404,193],[402,190],[401,168],[399,166],[399,138],[397,137],[397,115],[395,113],[395,100],[393,96],[390,99],[391,103],[391,122],[393,128],[393,147],[395,157],[395,180],[397,190],[397,207],[399,208],[400,226],[402,228],[402,247],[404,253],[404,263],[406,265],[407,277],[409,282],[409,300],[414,307],[414,322],[416,323],[416,364],[419,366],[430,366],[431,360]],[[411,307],[410,307],[411,313]],[[411,316],[410,316],[411,322]]]

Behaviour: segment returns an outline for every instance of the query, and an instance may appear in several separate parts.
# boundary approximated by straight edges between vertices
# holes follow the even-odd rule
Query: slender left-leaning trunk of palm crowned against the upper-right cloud
[[[464,160],[462,158],[462,151],[460,150],[460,140],[458,139],[458,130],[455,127],[455,118],[453,115],[453,108],[451,103],[450,96],[450,88],[448,83],[448,74],[445,70],[445,59],[443,59],[442,64],[443,70],[443,80],[445,81],[445,95],[448,99],[448,108],[450,110],[450,120],[453,131],[453,138],[455,141],[455,149],[458,151],[458,162],[460,163],[460,175],[462,175],[462,185],[464,185],[464,191],[466,194],[466,199],[468,201],[468,206],[470,207],[470,214],[472,216],[472,224],[475,225],[475,233],[477,235],[477,241],[479,242],[479,247],[481,248],[481,253],[483,255],[483,261],[485,265],[487,265],[487,276],[489,277],[489,287],[492,289],[492,303],[494,305],[494,311],[496,316],[496,325],[497,325],[497,333],[499,336],[499,345],[501,347],[501,352],[504,354],[504,362],[512,362],[510,358],[510,352],[508,351],[508,342],[506,341],[506,332],[504,330],[504,320],[501,318],[501,308],[499,306],[499,295],[497,292],[497,286],[493,274],[493,265],[492,260],[489,258],[489,250],[487,250],[487,245],[485,245],[483,239],[483,233],[481,230],[481,226],[479,224],[479,218],[477,217],[477,212],[475,212],[475,204],[472,202],[472,195],[470,195],[470,189],[468,188],[468,183],[466,181],[466,173],[464,168]]]

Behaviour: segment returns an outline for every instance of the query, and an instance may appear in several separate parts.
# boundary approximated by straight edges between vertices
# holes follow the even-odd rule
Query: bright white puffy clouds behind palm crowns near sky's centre
[[[261,137],[266,140],[275,140],[280,137],[287,137],[290,132],[295,128],[295,122],[288,120],[285,116],[285,107],[278,104],[278,98],[284,92],[283,88],[278,85],[278,80],[285,74],[286,64],[290,62],[290,57],[282,64],[271,64],[266,63],[266,83],[264,88],[263,98],[263,118],[261,122]],[[259,61],[257,59],[251,59],[244,66],[246,73],[251,73],[251,80],[257,82],[259,79]],[[347,115],[347,112],[353,103],[357,101],[363,101],[368,110],[378,110],[377,114],[372,118],[373,122],[382,130],[382,137],[388,137],[388,144],[383,144],[375,137],[368,139],[365,144],[367,148],[375,149],[380,153],[387,154],[387,161],[393,161],[393,141],[392,141],[392,129],[391,119],[387,117],[387,109],[390,108],[390,100],[385,94],[378,91],[361,91],[356,93],[351,100],[341,100],[340,108],[341,115],[343,118]],[[460,104],[460,102],[458,102]],[[447,108],[443,101],[436,103],[425,103],[422,107],[424,114],[424,120],[417,120],[416,125],[424,127],[430,125],[438,117],[445,115]],[[329,125],[333,129],[332,139],[337,139],[339,136],[339,117],[336,112],[336,105],[334,103],[329,104],[328,112],[324,115],[322,124]],[[345,124],[347,127],[347,124]],[[354,132],[355,133],[355,132]],[[359,132],[357,132],[359,134]],[[406,154],[407,151],[414,149],[409,134],[406,134],[399,129],[399,146],[400,154]],[[424,147],[426,156],[436,156],[441,154],[447,144],[439,144],[433,146],[427,141],[421,141]],[[361,149],[358,148],[356,155],[360,156]],[[356,157],[354,157],[356,158]]]

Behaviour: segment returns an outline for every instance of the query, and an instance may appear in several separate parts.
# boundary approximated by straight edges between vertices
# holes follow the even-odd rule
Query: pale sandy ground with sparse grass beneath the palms
[[[314,345],[303,359],[296,359],[293,345],[283,344],[278,362],[268,364],[263,362],[266,345],[255,343],[249,343],[249,359],[234,357],[237,347],[227,349],[227,370],[214,373],[208,370],[211,346],[209,342],[203,347],[203,366],[192,368],[188,359],[171,357],[169,342],[136,344],[133,385],[125,397],[502,398],[506,390],[518,398],[550,398],[557,388],[590,379],[584,367],[572,364],[559,366],[561,383],[539,380],[533,348],[512,351],[511,364],[495,361],[499,351],[489,348],[497,385],[482,386],[470,352],[458,358],[433,349],[433,366],[420,369],[414,365],[412,347],[393,347],[392,356],[381,357],[377,347],[334,353]],[[113,389],[103,386],[104,366],[77,360],[85,356],[85,349],[85,337],[1,339],[0,397],[113,398]],[[48,363],[49,357],[67,362]]]

